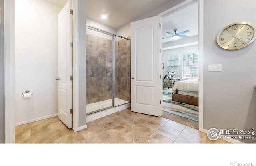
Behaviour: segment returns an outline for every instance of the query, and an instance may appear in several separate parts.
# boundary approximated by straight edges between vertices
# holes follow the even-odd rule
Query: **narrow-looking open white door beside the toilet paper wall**
[[[71,1],[64,6],[58,15],[58,117],[72,128],[72,28],[70,14]]]

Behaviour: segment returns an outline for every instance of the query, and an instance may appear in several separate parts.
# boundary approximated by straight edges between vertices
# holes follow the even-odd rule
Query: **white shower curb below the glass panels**
[[[97,113],[87,115],[86,116],[86,123],[90,122],[90,121],[94,121],[94,120],[102,118],[102,117],[105,117],[105,116],[110,115],[112,113],[116,113],[116,112],[121,111],[123,109],[130,108],[130,107],[131,107],[131,103],[127,103],[127,104],[120,105],[120,106],[117,106],[117,107],[114,107],[114,108],[111,108],[111,109],[107,109],[107,110],[104,110],[104,111],[99,111]]]

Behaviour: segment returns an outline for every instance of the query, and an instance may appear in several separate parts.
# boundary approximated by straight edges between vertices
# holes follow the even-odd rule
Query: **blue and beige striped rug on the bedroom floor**
[[[198,121],[198,106],[172,101],[172,93],[163,90],[163,111]]]

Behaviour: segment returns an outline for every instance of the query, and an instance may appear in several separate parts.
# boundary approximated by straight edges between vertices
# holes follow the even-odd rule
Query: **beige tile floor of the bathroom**
[[[229,143],[211,141],[195,128],[124,109],[87,123],[78,132],[58,117],[16,126],[16,143]]]

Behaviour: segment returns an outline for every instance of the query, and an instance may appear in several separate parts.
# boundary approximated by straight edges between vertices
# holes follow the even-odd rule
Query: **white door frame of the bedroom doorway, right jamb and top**
[[[177,12],[183,8],[186,8],[194,3],[198,2],[198,58],[199,58],[199,105],[198,105],[198,128],[199,131],[204,131],[203,121],[203,0],[186,0],[160,14],[158,16],[165,17],[169,14]]]

